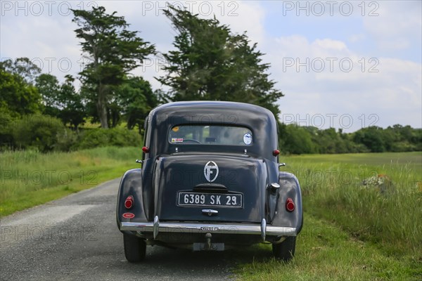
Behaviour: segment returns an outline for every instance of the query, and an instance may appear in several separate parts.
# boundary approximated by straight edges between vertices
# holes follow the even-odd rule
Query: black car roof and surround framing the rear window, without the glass
[[[226,101],[184,101],[167,103],[151,110],[147,134],[151,155],[172,151],[174,144],[167,141],[168,132],[174,126],[186,124],[247,127],[254,138],[248,151],[261,157],[274,158],[272,151],[278,148],[276,119],[264,107]],[[185,146],[187,149],[188,146]],[[224,145],[219,145],[218,149],[224,149]]]

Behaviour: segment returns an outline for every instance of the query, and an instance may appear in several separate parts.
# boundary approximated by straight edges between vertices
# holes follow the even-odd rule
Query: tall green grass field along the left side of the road
[[[92,188],[139,167],[140,148],[0,153],[0,216]]]

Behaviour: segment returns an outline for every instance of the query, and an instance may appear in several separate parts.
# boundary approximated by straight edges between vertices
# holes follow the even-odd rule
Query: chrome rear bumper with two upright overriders
[[[154,239],[157,237],[158,233],[218,233],[236,235],[261,235],[263,241],[265,241],[265,237],[267,236],[286,237],[297,235],[296,228],[267,226],[267,221],[265,218],[262,218],[260,225],[254,225],[246,223],[160,223],[158,216],[155,216],[153,222],[121,222],[120,230],[136,231],[137,233],[152,233]]]

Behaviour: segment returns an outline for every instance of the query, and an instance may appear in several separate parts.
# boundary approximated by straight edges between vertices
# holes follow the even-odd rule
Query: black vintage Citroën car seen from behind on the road
[[[141,261],[146,245],[222,251],[272,243],[295,253],[302,228],[298,179],[279,171],[274,115],[257,105],[179,102],[145,122],[141,169],[122,177],[117,226],[124,254]]]

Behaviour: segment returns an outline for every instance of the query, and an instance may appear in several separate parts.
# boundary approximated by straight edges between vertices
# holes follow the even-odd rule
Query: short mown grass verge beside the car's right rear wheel
[[[238,263],[234,271],[236,280],[381,281],[422,278],[421,261],[410,256],[402,259],[386,256],[377,247],[356,240],[338,226],[308,213],[305,213],[304,227],[298,236],[295,258],[290,263],[276,261],[271,256],[271,245],[267,244],[234,253]],[[234,257],[231,255],[227,259]]]

